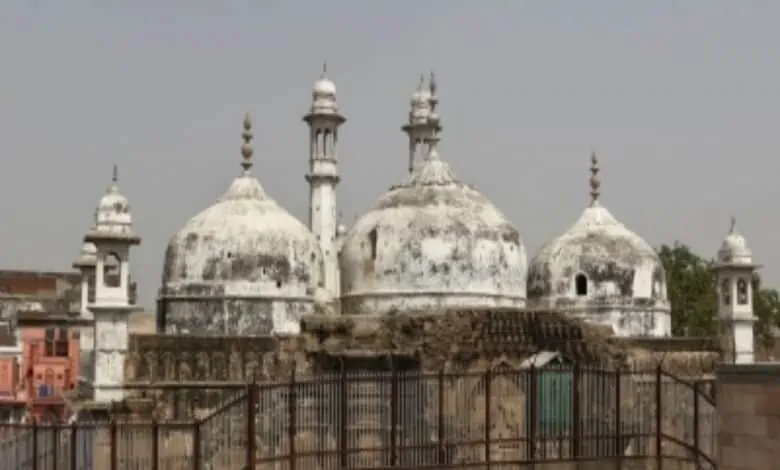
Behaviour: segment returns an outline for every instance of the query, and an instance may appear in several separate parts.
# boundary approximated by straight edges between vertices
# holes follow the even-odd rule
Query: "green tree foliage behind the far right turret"
[[[658,250],[666,271],[667,294],[672,305],[672,333],[708,336],[717,332],[718,299],[712,260],[705,260],[679,242]],[[753,277],[753,307],[758,317],[756,334],[766,344],[771,327],[780,325],[780,294],[761,286]]]

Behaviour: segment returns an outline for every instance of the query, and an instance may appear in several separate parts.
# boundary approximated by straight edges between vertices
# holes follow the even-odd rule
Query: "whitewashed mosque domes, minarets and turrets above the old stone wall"
[[[442,119],[436,88],[431,74],[411,97],[408,122],[402,126],[409,139],[408,177],[382,194],[352,227],[339,220],[336,198],[339,132],[346,118],[325,72],[314,84],[311,107],[303,116],[310,142],[308,226],[252,175],[247,115],[240,173],[222,197],[170,238],[159,289],[158,332],[295,334],[300,319],[315,312],[382,316],[447,307],[511,307],[554,308],[609,325],[618,336],[671,336],[664,268],[652,246],[604,205],[597,157],[591,156],[589,205],[528,261],[515,225],[439,154]],[[116,322],[123,309],[131,308],[129,248],[139,242],[130,205],[114,178],[77,263],[83,272],[90,266],[94,272],[94,303],[83,315],[94,315],[95,346],[102,345],[103,351],[98,369],[115,369],[101,360],[111,360],[111,348],[117,355],[126,348],[126,338],[117,339],[126,337],[126,331],[118,331]],[[732,223],[716,265],[719,315],[735,328],[742,325],[742,331],[752,331],[749,281],[757,267]],[[107,270],[119,270],[110,276],[118,280],[113,286],[106,285]],[[84,276],[84,285],[90,282]],[[743,353],[752,357],[752,340]]]

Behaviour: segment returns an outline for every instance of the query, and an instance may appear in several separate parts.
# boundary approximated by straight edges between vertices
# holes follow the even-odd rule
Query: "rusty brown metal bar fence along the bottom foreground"
[[[0,425],[0,468],[714,470],[712,388],[579,367],[139,384],[153,418]]]

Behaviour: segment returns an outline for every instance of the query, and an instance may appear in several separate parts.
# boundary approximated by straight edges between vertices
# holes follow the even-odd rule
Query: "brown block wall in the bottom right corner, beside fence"
[[[718,470],[780,470],[780,363],[717,371]]]

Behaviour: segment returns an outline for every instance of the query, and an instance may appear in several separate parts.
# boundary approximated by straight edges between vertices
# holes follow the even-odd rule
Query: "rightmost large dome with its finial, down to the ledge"
[[[601,205],[598,160],[595,155],[591,158],[591,205],[571,228],[544,245],[531,260],[529,301],[554,307],[594,298],[602,304],[626,299],[665,301],[661,260],[650,244]]]

